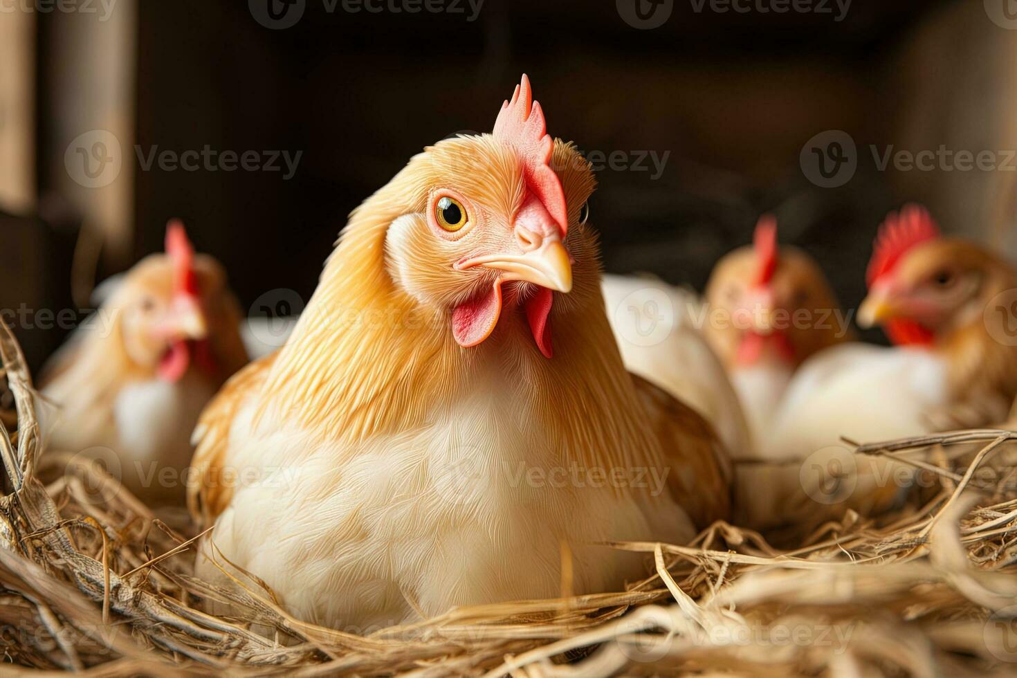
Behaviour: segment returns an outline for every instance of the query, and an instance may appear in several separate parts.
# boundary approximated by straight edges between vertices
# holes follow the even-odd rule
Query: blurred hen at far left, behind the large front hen
[[[54,406],[43,413],[48,448],[108,448],[141,499],[182,503],[197,416],[247,362],[240,319],[226,271],[195,255],[183,225],[171,222],[166,253],[116,282],[47,364],[40,387]]]

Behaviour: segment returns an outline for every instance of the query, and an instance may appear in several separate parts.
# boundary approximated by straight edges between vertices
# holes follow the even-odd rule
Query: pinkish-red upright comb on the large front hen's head
[[[554,141],[547,133],[547,123],[540,104],[533,101],[530,78],[526,73],[523,73],[523,81],[516,85],[512,101],[501,105],[492,134],[519,153],[527,186],[543,203],[551,219],[557,222],[564,235],[569,228],[565,193],[561,180],[550,166]]]

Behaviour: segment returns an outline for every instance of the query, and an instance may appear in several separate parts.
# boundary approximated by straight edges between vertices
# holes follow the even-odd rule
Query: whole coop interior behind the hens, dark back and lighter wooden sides
[[[487,129],[490,102],[523,71],[545,111],[569,112],[553,134],[600,152],[590,209],[608,271],[702,289],[773,212],[781,242],[806,248],[854,307],[876,229],[907,201],[1017,253],[1017,173],[881,171],[869,149],[1017,146],[1017,33],[978,3],[855,2],[839,21],[833,4],[829,15],[674,5],[653,30],[611,3],[529,0],[491,1],[472,21],[310,2],[286,30],[249,20],[242,2],[118,0],[107,21],[4,13],[2,305],[86,308],[71,293],[82,229],[95,236],[74,268],[78,296],[160,249],[171,218],[220,258],[244,308],[279,288],[307,299],[350,210],[432,140]],[[115,130],[131,161],[100,188],[64,165],[94,128]],[[859,149],[837,188],[799,165],[825,130]],[[279,172],[187,172],[135,158],[205,145],[302,155],[289,179],[282,160]],[[607,162],[614,150],[623,163]],[[66,329],[20,332],[38,368]]]

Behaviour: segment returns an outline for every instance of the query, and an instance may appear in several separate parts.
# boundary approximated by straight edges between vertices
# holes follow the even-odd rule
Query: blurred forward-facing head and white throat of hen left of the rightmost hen
[[[727,254],[706,289],[704,333],[730,375],[757,452],[798,366],[850,338],[849,318],[819,264],[777,244],[777,221],[760,219],[753,246]]]

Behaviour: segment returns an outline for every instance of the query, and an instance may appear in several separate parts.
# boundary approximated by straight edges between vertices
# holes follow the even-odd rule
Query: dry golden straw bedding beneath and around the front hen
[[[879,522],[849,514],[798,535],[792,551],[718,523],[687,546],[612,545],[646,553],[655,570],[624,592],[456,609],[358,635],[303,623],[268,591],[239,595],[194,578],[197,535],[156,518],[99,464],[64,470],[67,459],[40,457],[37,396],[16,343],[0,329],[17,415],[16,429],[0,436],[7,673],[984,676],[1017,668],[1017,466],[1007,458],[1015,433],[860,449],[935,482]],[[246,613],[207,615],[207,599]]]

